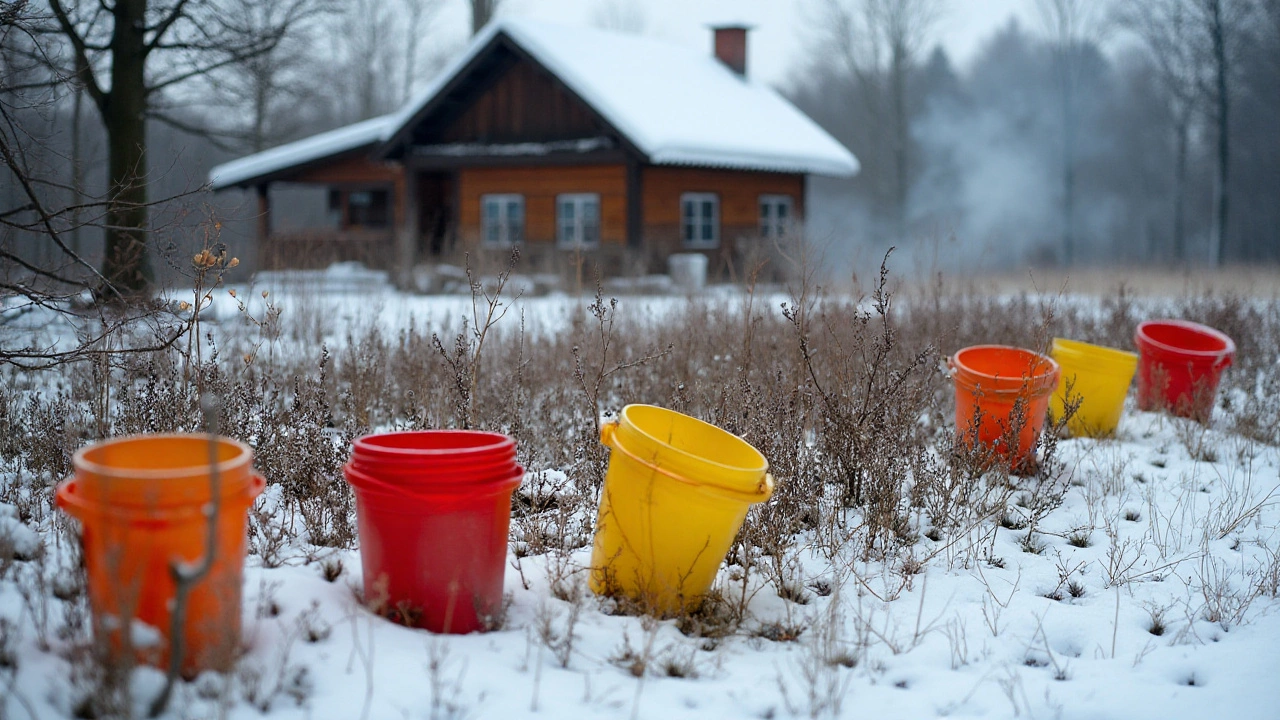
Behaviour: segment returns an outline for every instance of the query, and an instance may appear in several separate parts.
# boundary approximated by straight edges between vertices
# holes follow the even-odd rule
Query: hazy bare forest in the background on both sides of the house
[[[434,23],[453,1],[472,6],[472,29],[500,10],[497,0],[143,1],[159,37],[163,13],[182,8],[187,24],[174,27],[207,29],[216,17],[229,38],[174,42],[166,64],[146,68],[138,176],[155,204],[155,272],[182,265],[210,218],[233,249],[247,243],[248,196],[187,195],[214,164],[390,111],[421,88],[461,50]],[[1042,22],[1010,22],[963,65],[937,45],[942,0],[805,3],[806,56],[778,90],[863,167],[810,183],[808,231],[831,252],[893,245],[920,268],[966,273],[1280,261],[1280,0],[1036,0]],[[108,15],[61,23],[63,5]],[[114,232],[88,202],[111,201],[105,115],[65,32],[105,44],[110,8],[0,3],[10,260],[59,263],[28,192],[64,210],[60,237],[86,258],[101,256],[104,227]],[[604,1],[590,19],[646,28],[637,0]],[[232,42],[242,38],[252,42]],[[105,77],[109,60],[90,60]]]

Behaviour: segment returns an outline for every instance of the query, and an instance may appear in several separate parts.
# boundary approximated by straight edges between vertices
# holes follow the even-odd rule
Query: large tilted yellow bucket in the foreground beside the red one
[[[748,509],[773,495],[763,455],[689,415],[627,405],[600,429],[609,446],[591,548],[591,591],[646,611],[692,610]]]

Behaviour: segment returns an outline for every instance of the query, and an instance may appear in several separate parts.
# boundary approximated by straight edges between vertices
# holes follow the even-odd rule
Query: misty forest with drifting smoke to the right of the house
[[[1280,260],[1280,1],[1041,1],[964,67],[873,13],[936,3],[827,6],[786,94],[863,172],[814,183],[817,236],[961,270]]]

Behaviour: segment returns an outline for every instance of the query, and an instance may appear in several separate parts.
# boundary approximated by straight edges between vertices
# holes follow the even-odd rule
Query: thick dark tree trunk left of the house
[[[127,297],[148,293],[154,281],[147,255],[146,0],[118,0],[114,14],[111,90],[102,114],[110,188],[102,275]]]

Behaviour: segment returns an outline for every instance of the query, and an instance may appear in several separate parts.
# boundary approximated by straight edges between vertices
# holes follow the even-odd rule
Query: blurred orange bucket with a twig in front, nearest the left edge
[[[214,562],[192,585],[183,624],[182,670],[229,670],[238,655],[248,507],[265,482],[248,446],[214,437],[220,509]],[[109,657],[166,666],[177,585],[174,561],[209,551],[210,437],[147,434],[100,442],[73,457],[58,506],[83,527],[84,570],[95,637]],[[128,630],[128,634],[125,634]]]

